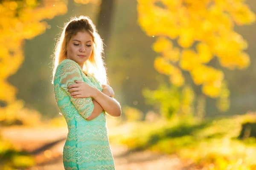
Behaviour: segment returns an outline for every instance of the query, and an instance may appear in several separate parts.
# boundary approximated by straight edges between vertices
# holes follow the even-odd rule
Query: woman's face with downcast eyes
[[[83,68],[84,62],[90,58],[93,51],[93,37],[87,32],[73,35],[67,45],[67,58],[77,62]]]

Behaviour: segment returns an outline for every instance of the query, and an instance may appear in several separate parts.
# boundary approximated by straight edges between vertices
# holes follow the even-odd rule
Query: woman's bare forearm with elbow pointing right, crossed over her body
[[[121,106],[116,99],[105,95],[97,88],[94,88],[93,99],[95,99],[99,105],[111,116],[117,117],[121,115]]]

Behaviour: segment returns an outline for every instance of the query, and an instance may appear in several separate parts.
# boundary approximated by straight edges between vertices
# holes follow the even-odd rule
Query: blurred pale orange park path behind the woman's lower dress
[[[61,156],[67,128],[6,127],[1,135],[35,157],[37,165],[30,170],[64,170]],[[175,155],[160,155],[149,150],[129,152],[116,145],[111,145],[111,150],[116,170],[189,170],[182,168]]]

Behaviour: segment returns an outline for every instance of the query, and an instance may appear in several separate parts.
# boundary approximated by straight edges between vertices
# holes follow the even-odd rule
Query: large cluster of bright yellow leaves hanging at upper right
[[[137,2],[140,27],[148,36],[157,37],[152,48],[161,57],[155,59],[154,67],[168,75],[171,83],[183,85],[181,70],[188,71],[194,83],[202,85],[204,94],[216,98],[224,92],[224,74],[207,65],[214,57],[229,69],[250,65],[250,57],[244,52],[247,42],[233,30],[235,24],[249,25],[256,20],[243,0]]]

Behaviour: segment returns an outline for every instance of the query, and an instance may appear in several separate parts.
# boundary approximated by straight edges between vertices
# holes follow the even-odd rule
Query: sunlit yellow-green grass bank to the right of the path
[[[182,121],[134,122],[110,134],[112,143],[125,144],[131,150],[150,149],[177,154],[195,168],[211,170],[256,169],[256,139],[241,140],[241,127],[256,122],[255,114],[230,118]],[[125,129],[122,130],[122,129]]]

